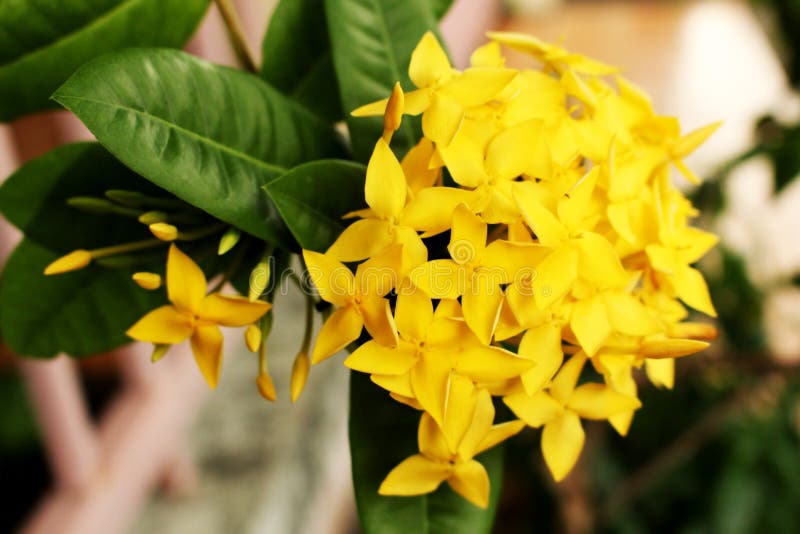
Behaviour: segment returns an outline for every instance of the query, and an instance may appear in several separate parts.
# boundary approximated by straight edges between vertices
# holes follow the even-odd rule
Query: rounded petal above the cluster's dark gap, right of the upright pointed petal
[[[427,187],[417,192],[400,214],[400,223],[430,237],[449,229],[459,204],[473,199],[471,191],[455,187]]]

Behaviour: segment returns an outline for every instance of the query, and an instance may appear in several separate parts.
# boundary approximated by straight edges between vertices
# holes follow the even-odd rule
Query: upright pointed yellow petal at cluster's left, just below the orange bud
[[[364,196],[369,207],[384,219],[396,217],[406,205],[403,168],[383,139],[378,139],[369,159]]]

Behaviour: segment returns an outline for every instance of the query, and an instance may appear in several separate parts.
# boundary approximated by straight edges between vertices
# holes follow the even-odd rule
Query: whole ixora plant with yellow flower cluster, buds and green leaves
[[[189,4],[173,13],[187,29],[202,14]],[[284,0],[253,73],[165,48],[78,68],[53,99],[99,143],[0,189],[26,236],[0,289],[4,340],[48,357],[133,338],[156,361],[188,339],[213,388],[219,326],[246,327],[274,400],[272,300],[296,281],[291,397],[311,364],[351,350],[368,532],[488,530],[497,445],[526,426],[543,429],[557,481],[582,419],[625,434],[635,374],[670,388],[674,359],[715,335],[687,307],[715,315],[691,265],[717,239],[689,226],[670,172],[697,182],[683,158],[717,125],[682,134],[615,68],[526,35],[490,33],[456,70],[436,36],[447,4]],[[504,47],[538,68],[506,66]],[[33,109],[14,105],[6,118]],[[243,296],[220,294],[227,283]]]

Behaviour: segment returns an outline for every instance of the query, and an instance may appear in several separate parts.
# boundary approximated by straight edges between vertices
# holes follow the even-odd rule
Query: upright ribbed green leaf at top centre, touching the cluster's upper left
[[[366,162],[383,120],[354,118],[350,112],[388,97],[395,82],[413,88],[408,63],[425,32],[437,31],[434,8],[428,0],[325,0],[325,10],[353,153]],[[419,136],[418,121],[406,117],[392,146],[402,154]]]

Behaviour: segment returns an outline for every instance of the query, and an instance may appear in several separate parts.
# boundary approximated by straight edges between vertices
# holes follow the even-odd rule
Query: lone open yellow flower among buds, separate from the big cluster
[[[169,249],[166,285],[172,304],[151,311],[127,334],[138,341],[169,345],[191,338],[197,366],[213,389],[222,367],[219,327],[249,325],[267,313],[270,304],[219,293],[206,295],[203,271],[175,245]]]

